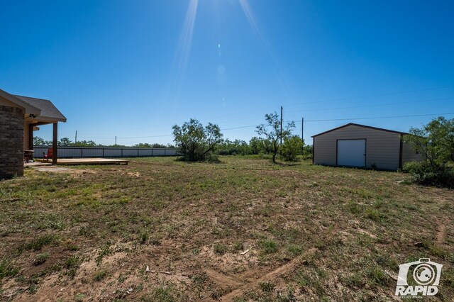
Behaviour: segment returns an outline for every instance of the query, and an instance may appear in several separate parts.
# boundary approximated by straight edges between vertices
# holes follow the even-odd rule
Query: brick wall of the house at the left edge
[[[23,175],[23,111],[0,106],[0,179]]]

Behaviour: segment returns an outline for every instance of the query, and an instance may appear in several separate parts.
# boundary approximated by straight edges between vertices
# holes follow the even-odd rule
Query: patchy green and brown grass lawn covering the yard
[[[399,264],[443,264],[454,194],[408,175],[221,157],[0,181],[0,297],[37,301],[387,301]]]

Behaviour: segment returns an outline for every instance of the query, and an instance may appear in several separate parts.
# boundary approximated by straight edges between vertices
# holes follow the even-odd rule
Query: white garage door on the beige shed
[[[366,140],[338,140],[338,166],[365,167]]]

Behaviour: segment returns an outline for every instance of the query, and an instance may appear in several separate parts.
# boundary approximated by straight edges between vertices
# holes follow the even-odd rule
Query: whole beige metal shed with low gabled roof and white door
[[[397,170],[424,160],[402,138],[409,133],[348,123],[312,136],[314,164]]]

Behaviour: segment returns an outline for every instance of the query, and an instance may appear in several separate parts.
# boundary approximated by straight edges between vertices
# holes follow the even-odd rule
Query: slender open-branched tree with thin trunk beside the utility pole
[[[267,140],[272,142],[272,162],[276,163],[276,155],[277,151],[279,150],[279,140],[281,138],[287,138],[290,135],[291,130],[295,128],[295,123],[289,122],[282,129],[281,134],[281,122],[277,113],[270,113],[265,114],[265,124],[261,124],[257,126],[257,130],[255,130],[259,135],[265,135]]]

